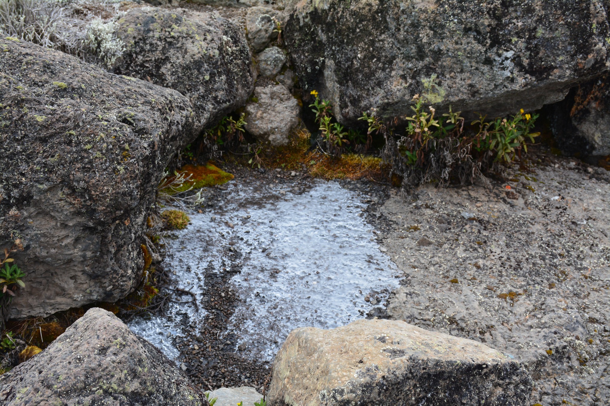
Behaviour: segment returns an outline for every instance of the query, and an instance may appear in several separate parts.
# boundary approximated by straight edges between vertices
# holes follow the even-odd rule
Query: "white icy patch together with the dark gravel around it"
[[[260,388],[292,329],[366,317],[398,287],[402,273],[365,219],[379,199],[352,189],[284,171],[215,189],[165,241],[182,303],[131,329],[205,388]]]

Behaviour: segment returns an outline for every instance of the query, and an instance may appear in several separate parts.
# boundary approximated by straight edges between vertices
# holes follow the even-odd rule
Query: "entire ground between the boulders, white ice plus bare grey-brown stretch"
[[[233,168],[235,183],[207,191],[168,240],[167,266],[199,311],[182,304],[140,331],[204,388],[260,391],[293,327],[393,318],[514,355],[531,404],[606,405],[610,172],[530,158],[490,187],[409,193]]]

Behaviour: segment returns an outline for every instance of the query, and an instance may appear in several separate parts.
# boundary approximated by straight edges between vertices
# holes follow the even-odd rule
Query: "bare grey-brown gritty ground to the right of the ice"
[[[514,355],[531,404],[608,405],[610,172],[533,161],[490,187],[392,189],[372,207],[404,272],[377,315]]]

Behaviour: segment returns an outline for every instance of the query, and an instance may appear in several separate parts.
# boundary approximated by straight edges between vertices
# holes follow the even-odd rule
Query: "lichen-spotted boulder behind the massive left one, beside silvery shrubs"
[[[132,9],[118,22],[126,51],[114,69],[188,97],[197,130],[242,107],[252,93],[243,30],[215,12]]]

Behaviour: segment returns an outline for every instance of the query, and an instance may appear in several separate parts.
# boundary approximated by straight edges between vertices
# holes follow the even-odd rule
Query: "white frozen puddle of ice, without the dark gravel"
[[[210,262],[222,270],[235,265],[231,255],[243,254],[237,255],[241,272],[232,278],[241,301],[220,333],[235,332],[236,348],[242,344],[258,359],[272,360],[292,329],[350,323],[381,305],[365,301],[367,294],[398,286],[397,268],[358,215],[367,206],[361,194],[332,181],[316,181],[301,195],[279,186],[228,186],[221,209],[190,214],[192,225],[179,239],[166,239],[165,267],[176,272],[174,285],[200,301]],[[176,359],[170,336],[208,317],[192,304],[172,303],[165,317],[130,327]]]

